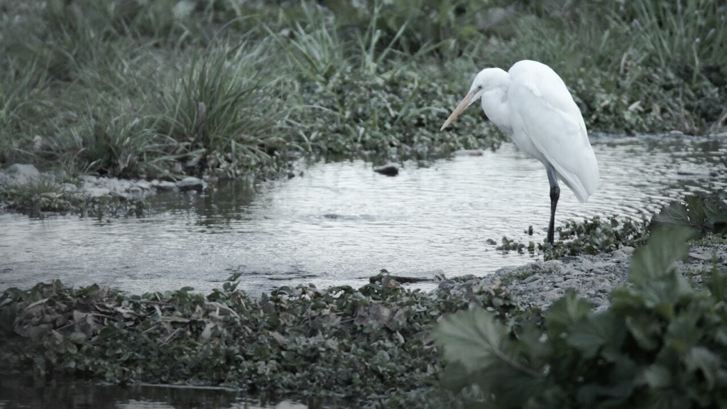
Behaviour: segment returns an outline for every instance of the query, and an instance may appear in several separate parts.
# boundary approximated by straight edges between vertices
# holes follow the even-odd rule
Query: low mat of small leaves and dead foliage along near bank
[[[251,298],[239,290],[241,275],[208,295],[190,287],[125,295],[59,281],[10,288],[0,295],[0,360],[40,378],[311,391],[374,405],[435,384],[441,365],[430,330],[444,312],[473,305],[521,316],[498,286],[428,295],[382,277],[358,289],[284,286]]]

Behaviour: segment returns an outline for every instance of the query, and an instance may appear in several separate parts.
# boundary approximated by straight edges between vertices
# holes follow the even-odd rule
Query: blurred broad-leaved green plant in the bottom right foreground
[[[714,271],[707,293],[678,274],[693,236],[685,227],[655,231],[606,311],[571,291],[545,312],[542,330],[513,331],[481,309],[446,317],[437,332],[443,381],[475,385],[483,408],[727,405],[727,278]]]

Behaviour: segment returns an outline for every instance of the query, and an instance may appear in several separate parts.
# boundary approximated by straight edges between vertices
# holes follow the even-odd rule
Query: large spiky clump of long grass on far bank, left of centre
[[[271,86],[270,44],[241,42],[195,55],[180,78],[159,92],[156,132],[177,141],[171,152],[190,170],[275,167],[288,145],[281,122],[284,106]]]

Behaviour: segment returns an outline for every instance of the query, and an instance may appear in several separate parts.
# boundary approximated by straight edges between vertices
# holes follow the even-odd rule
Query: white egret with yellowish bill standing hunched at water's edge
[[[518,148],[545,165],[550,182],[547,240],[553,244],[555,207],[561,196],[558,179],[571,188],[581,203],[599,185],[598,163],[580,109],[553,69],[523,60],[507,72],[500,68],[480,71],[470,92],[441,129],[478,99],[491,122],[510,135]]]

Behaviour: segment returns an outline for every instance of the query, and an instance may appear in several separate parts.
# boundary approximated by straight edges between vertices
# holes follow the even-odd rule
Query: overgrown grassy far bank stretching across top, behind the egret
[[[0,164],[260,178],[300,154],[497,144],[479,68],[541,60],[592,132],[707,133],[727,114],[725,6],[577,1],[0,3]]]

